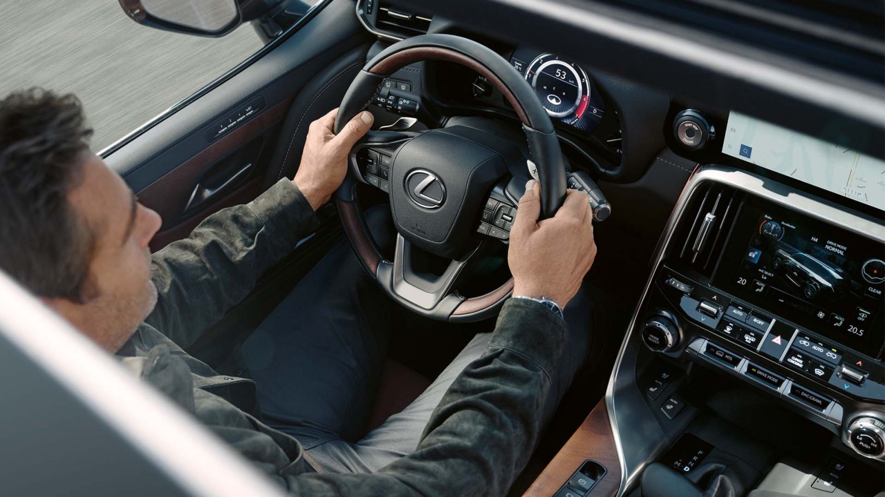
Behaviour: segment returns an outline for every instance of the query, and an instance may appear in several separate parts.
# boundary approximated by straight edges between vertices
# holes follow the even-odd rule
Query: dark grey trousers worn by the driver
[[[477,334],[423,394],[364,436],[387,354],[392,305],[342,243],[242,346],[262,421],[300,441],[316,470],[373,472],[412,453],[443,394],[489,342],[491,333]],[[565,310],[569,333],[539,413],[545,420],[587,356],[593,314],[589,292],[581,288]],[[492,327],[489,322],[489,332]]]

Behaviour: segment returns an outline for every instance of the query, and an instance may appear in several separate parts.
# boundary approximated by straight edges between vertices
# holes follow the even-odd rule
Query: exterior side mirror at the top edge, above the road
[[[236,0],[119,0],[129,18],[175,33],[223,36],[240,26]]]

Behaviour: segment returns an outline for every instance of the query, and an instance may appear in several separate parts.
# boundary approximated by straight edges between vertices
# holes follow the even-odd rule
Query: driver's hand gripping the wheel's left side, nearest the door
[[[327,203],[347,174],[347,156],[374,122],[372,112],[358,113],[335,135],[338,109],[311,123],[301,164],[293,180],[313,210]]]

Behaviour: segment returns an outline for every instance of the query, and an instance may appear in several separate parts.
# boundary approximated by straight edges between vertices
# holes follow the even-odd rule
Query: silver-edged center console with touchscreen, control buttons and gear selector
[[[604,403],[528,494],[543,494],[550,468],[593,458],[608,464],[600,483],[620,478],[607,495],[885,490],[883,256],[881,219],[701,168],[659,242]],[[616,466],[582,449],[604,440]]]

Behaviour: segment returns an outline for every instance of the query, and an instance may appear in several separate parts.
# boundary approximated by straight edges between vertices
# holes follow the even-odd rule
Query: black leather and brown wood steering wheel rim
[[[566,167],[559,141],[550,116],[535,95],[535,90],[503,57],[478,42],[451,34],[423,34],[397,42],[373,57],[350,84],[335,119],[335,133],[339,133],[350,119],[372,103],[381,90],[383,81],[406,65],[426,60],[443,60],[466,65],[484,76],[498,89],[522,122],[528,150],[536,165],[541,187],[542,218],[550,218],[558,210],[566,195]],[[494,317],[504,301],[512,293],[513,279],[488,294],[466,298],[451,292],[427,310],[410,302],[381,278],[389,274],[393,266],[384,260],[366,229],[361,210],[357,204],[357,186],[363,182],[358,171],[352,168],[335,195],[335,202],[342,218],[342,226],[360,264],[379,282],[389,296],[405,307],[426,317],[452,322],[478,321]],[[400,240],[402,241],[402,237]],[[399,242],[398,241],[398,242]],[[398,247],[397,247],[398,248]],[[383,274],[381,274],[383,273]],[[438,309],[442,308],[442,309]]]

